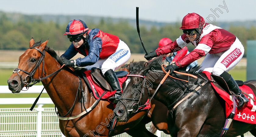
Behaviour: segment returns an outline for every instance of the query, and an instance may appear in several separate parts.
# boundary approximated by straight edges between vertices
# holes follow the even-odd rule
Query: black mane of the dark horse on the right
[[[144,62],[144,61],[140,61],[140,62],[134,62],[133,63],[133,70],[139,70],[139,69],[142,69],[145,67],[145,65],[149,66],[149,70],[151,71],[159,71],[159,72],[162,72],[162,67],[161,67],[161,64],[165,64],[166,61],[165,59],[163,58],[164,56],[161,55],[157,58],[154,58],[153,60],[149,61],[149,62]],[[147,63],[147,64],[146,64]],[[196,65],[195,67],[193,68],[190,68],[188,70],[188,72],[186,72],[186,68],[187,66],[185,67],[182,67],[180,69],[177,69],[176,71],[178,72],[183,72],[183,73],[189,73],[189,74],[195,74],[195,73],[198,73],[198,70],[200,69],[200,66],[199,65]],[[199,71],[201,72],[201,71]]]

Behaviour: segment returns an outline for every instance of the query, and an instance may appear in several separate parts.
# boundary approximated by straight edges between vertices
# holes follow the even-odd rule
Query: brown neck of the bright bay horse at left
[[[46,74],[43,77],[54,73],[60,68],[59,63],[51,56],[48,56],[45,57],[44,71]],[[86,94],[86,104],[90,105],[94,102],[95,99],[92,97],[91,93],[88,92],[84,81],[82,80],[81,82],[83,90],[85,90],[84,94]],[[73,103],[75,102],[76,93],[79,86],[79,78],[76,75],[68,72],[65,69],[62,69],[52,77],[43,80],[42,84],[44,85],[48,95],[52,99],[59,112],[66,113],[72,107]],[[80,92],[78,94],[80,94]],[[81,96],[78,95],[78,97]],[[80,103],[77,102],[77,100],[76,105],[79,105]],[[85,107],[87,107],[86,104]]]

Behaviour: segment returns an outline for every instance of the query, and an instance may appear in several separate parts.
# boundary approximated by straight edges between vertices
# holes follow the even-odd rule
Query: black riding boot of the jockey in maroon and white
[[[233,77],[226,71],[224,71],[220,77],[222,77],[228,87],[229,87],[229,90],[234,92],[237,96],[237,99],[238,99],[238,109],[240,109],[241,107],[244,107],[244,105],[249,102],[249,99],[247,99],[244,94],[242,94],[242,91],[241,89],[239,89],[236,81],[233,79]]]

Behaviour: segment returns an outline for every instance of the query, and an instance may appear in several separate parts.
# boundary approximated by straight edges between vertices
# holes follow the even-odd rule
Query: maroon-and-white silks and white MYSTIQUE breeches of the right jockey
[[[184,40],[191,42],[186,34],[183,34],[180,38],[176,39],[176,42],[157,49],[157,55],[173,52],[176,48],[183,48],[188,45]],[[176,61],[177,66],[186,66],[206,54],[201,64],[201,70],[221,75],[224,71],[228,72],[232,69],[244,55],[244,47],[238,38],[212,24],[205,25],[201,36],[192,41],[192,44],[196,48],[185,57]]]

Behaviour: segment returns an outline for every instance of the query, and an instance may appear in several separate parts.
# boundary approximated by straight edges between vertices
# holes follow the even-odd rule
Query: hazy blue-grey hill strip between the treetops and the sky
[[[5,14],[8,19],[12,20],[13,22],[16,22],[18,20],[25,20],[28,22],[33,21],[52,21],[55,23],[60,24],[66,24],[72,19],[81,19],[84,22],[90,22],[90,23],[98,23],[101,19],[104,19],[105,21],[117,23],[120,21],[128,22],[130,25],[134,26],[136,28],[136,20],[135,19],[129,19],[129,18],[109,18],[109,17],[98,17],[98,16],[88,16],[88,15],[24,15],[20,13],[6,13],[0,11],[0,18],[1,16]],[[181,22],[152,22],[147,20],[139,20],[140,26],[145,25],[146,27],[151,28],[152,26],[155,26],[157,28],[165,26],[165,25],[175,25],[176,23],[181,24]],[[217,25],[224,29],[229,29],[230,25],[233,26],[244,26],[246,28],[250,28],[251,26],[256,27],[256,20],[254,21],[244,21],[244,22],[213,22],[212,24]]]

